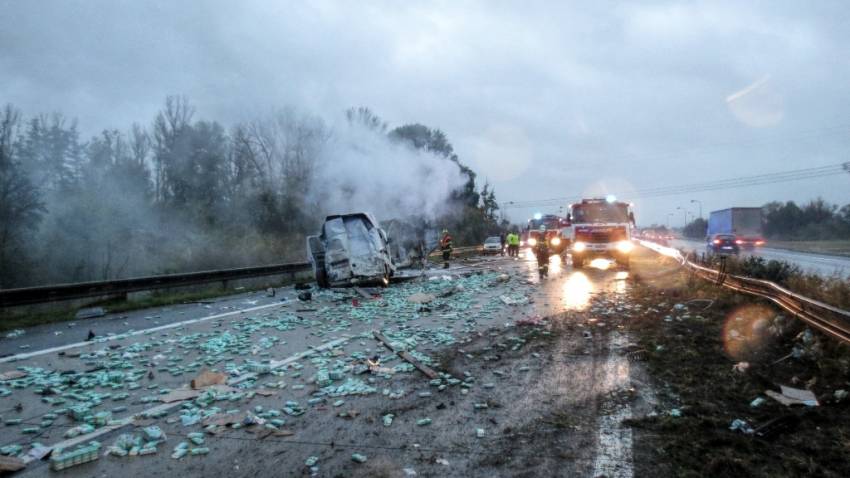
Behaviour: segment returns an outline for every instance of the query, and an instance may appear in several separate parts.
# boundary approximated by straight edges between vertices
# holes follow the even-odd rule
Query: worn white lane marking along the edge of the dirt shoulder
[[[629,361],[618,351],[626,344],[626,337],[620,333],[611,334],[608,343],[608,359],[605,362],[605,381],[601,391],[609,393],[601,407],[597,424],[596,460],[593,475],[606,478],[632,478],[632,429],[623,426],[623,420],[632,417],[630,403],[619,403],[610,392],[627,388],[629,380]],[[616,397],[617,394],[613,396]]]

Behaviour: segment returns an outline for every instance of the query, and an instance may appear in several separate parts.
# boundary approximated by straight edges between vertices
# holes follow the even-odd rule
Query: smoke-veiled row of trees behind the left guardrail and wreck
[[[477,242],[497,227],[446,135],[368,108],[333,126],[283,109],[233,127],[167,98],[150,127],[88,141],[59,114],[0,111],[0,288],[304,257],[327,213],[415,217]]]

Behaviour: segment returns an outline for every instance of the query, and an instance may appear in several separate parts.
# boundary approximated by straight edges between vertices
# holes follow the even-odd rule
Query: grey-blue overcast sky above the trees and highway
[[[86,136],[169,94],[228,125],[363,105],[444,130],[501,201],[629,197],[850,161],[848,22],[846,1],[0,0],[0,103]],[[850,174],[635,202],[680,225],[691,199],[818,195],[850,203]]]

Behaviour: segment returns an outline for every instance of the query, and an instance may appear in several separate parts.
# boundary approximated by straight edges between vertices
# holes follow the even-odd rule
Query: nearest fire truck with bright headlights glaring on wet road
[[[591,259],[613,259],[626,269],[634,249],[635,215],[629,203],[614,196],[582,199],[570,204],[567,219],[572,223],[570,254],[573,267],[582,268]]]

